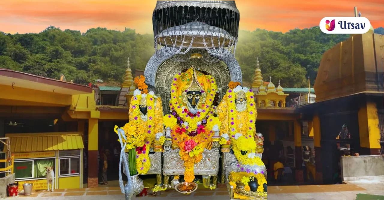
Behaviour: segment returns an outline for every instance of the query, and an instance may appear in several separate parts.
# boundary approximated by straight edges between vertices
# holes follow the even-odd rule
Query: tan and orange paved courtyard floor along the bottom
[[[268,187],[268,199],[346,199],[354,200],[358,193],[384,195],[384,180],[361,180],[346,182],[339,185],[294,185],[294,186],[270,186]],[[112,184],[108,184],[112,185]],[[46,190],[33,191],[32,195],[24,196],[20,192],[17,197],[8,199],[98,199],[98,200],[124,200],[119,187],[98,187],[82,189],[65,189],[47,192]],[[216,190],[199,188],[190,195],[183,195],[175,190],[162,191],[160,196],[152,196],[150,191],[146,197],[132,197],[134,200],[197,200],[197,199],[229,199],[225,185],[219,184]]]

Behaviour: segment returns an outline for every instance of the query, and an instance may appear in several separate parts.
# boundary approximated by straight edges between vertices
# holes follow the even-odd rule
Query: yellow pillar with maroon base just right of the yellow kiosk
[[[88,187],[98,187],[99,169],[97,161],[98,152],[98,119],[89,118],[88,120]]]

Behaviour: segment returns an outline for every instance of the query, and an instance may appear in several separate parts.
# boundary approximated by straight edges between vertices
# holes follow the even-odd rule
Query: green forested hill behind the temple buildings
[[[259,57],[265,80],[272,76],[275,83],[281,79],[283,87],[306,86],[307,76],[314,83],[323,52],[348,37],[325,34],[318,27],[287,33],[240,31],[236,58],[244,81],[252,80]],[[0,32],[0,68],[55,79],[63,73],[67,81],[79,84],[95,79],[121,82],[128,56],[132,70],[144,69],[153,53],[153,36],[132,29],[92,28],[82,34],[50,26],[41,33]]]

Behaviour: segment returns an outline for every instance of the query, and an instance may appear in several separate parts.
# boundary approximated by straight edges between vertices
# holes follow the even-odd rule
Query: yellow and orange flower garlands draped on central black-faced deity
[[[196,71],[196,73],[200,72]],[[207,99],[204,104],[200,105],[198,112],[196,114],[190,113],[186,107],[182,106],[182,97],[177,95],[179,81],[189,81],[180,79],[180,76],[182,76],[180,71],[174,76],[171,85],[169,107],[172,114],[163,117],[164,126],[172,129],[173,144],[180,149],[179,155],[184,161],[184,180],[186,182],[194,180],[194,164],[200,162],[204,148],[211,142],[214,135],[212,129],[215,126],[220,129],[221,125],[220,120],[214,117],[215,106],[212,106],[217,91],[215,79],[211,75],[204,75],[206,83],[210,84],[210,88],[207,91],[202,91],[207,93]]]

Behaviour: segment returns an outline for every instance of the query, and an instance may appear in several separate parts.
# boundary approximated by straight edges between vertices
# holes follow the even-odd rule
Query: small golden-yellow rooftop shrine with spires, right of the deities
[[[269,83],[266,86],[264,85],[259,58],[257,58],[252,90],[254,91],[257,107],[285,107],[285,98],[289,95],[283,92],[284,88],[281,87],[280,80],[277,88],[272,83],[271,77]]]

